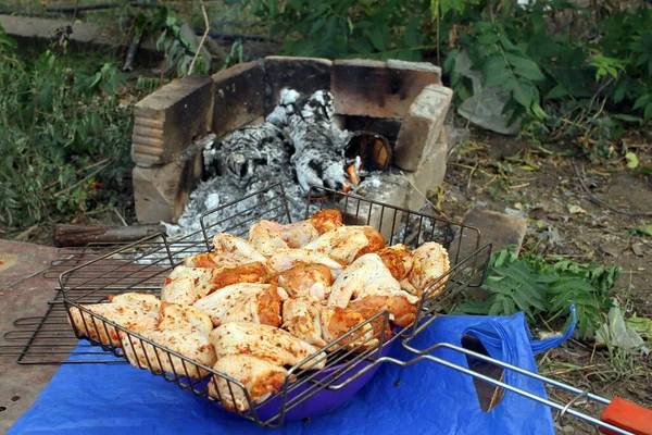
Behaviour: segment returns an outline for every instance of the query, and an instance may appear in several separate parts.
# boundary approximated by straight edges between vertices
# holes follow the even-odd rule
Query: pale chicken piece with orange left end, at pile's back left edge
[[[189,268],[224,268],[267,261],[249,241],[230,234],[215,234],[213,245],[214,251],[187,257],[184,264]]]

